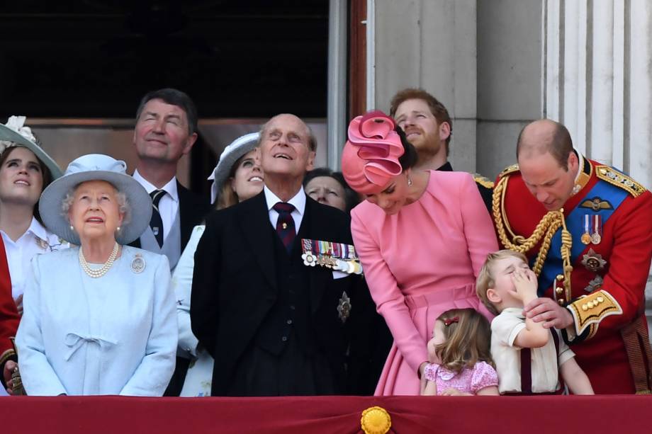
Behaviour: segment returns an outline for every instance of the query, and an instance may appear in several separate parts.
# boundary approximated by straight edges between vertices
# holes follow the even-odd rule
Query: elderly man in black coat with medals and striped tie
[[[195,254],[191,323],[215,358],[213,396],[346,392],[346,320],[362,309],[350,275],[310,266],[305,254],[308,246],[337,259],[329,249],[352,244],[347,215],[303,191],[315,148],[302,120],[271,118],[260,138],[264,191],[208,217]]]

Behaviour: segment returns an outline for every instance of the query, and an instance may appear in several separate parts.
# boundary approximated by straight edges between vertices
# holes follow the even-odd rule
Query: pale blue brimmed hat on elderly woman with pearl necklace
[[[127,174],[127,164],[103,154],[87,154],[74,159],[63,176],[45,188],[38,202],[38,210],[47,229],[72,244],[79,244],[79,234],[70,229],[67,215],[62,212],[66,194],[86,181],[106,181],[129,202],[131,216],[116,232],[118,244],[129,244],[150,225],[152,199],[147,190]]]

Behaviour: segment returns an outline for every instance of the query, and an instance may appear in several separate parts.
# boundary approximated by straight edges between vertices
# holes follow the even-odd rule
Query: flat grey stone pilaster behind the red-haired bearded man
[[[375,0],[368,80],[373,106],[389,110],[406,87],[424,88],[442,101],[453,121],[454,168],[476,171],[477,2],[473,0]]]

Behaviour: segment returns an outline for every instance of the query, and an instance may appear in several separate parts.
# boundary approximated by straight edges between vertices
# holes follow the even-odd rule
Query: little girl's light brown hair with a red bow
[[[454,319],[444,325],[444,343],[435,351],[442,366],[449,371],[461,372],[472,368],[477,362],[486,362],[495,367],[491,358],[491,329],[489,321],[476,309],[450,309],[439,315],[439,321]]]

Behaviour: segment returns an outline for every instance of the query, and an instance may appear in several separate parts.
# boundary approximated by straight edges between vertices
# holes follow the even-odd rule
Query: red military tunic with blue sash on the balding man
[[[573,314],[575,333],[563,334],[595,392],[634,393],[622,332],[633,329],[634,321],[639,330],[646,325],[643,309],[652,258],[652,194],[612,168],[581,155],[579,159],[576,193],[563,207],[563,224],[572,236],[570,294],[555,277],[563,275],[559,229],[539,275],[539,296],[557,299]],[[500,243],[508,247],[515,243],[515,235],[531,236],[547,210],[529,192],[517,166],[505,169],[497,185],[501,181],[495,190],[493,217]],[[500,224],[509,243],[501,239]],[[525,253],[534,259],[541,245],[539,241]],[[639,338],[643,341],[646,336]],[[637,347],[640,356],[646,348]]]

